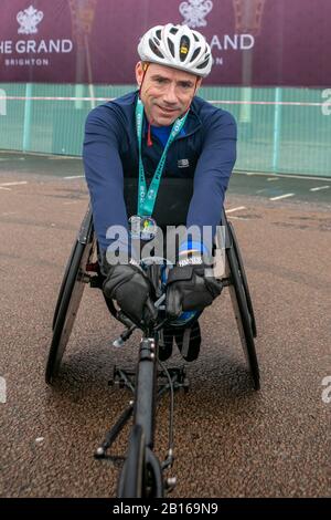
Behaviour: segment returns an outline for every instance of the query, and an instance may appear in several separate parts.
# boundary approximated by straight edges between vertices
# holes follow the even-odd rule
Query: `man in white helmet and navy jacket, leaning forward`
[[[209,227],[210,236],[215,235],[236,158],[236,123],[195,95],[212,67],[211,49],[201,33],[185,25],[157,25],[141,38],[138,53],[139,91],[89,113],[83,158],[104,294],[136,324],[149,324],[157,313],[154,288],[141,268],[135,239],[143,242],[153,238],[148,229],[182,223],[178,219],[183,211],[188,228]],[[181,181],[191,183],[192,193],[178,189]],[[132,193],[135,207],[128,201]],[[113,227],[126,230],[127,239],[115,240]],[[121,254],[114,261],[115,246],[127,253],[127,261],[120,261]],[[222,291],[222,283],[206,275],[212,248],[213,240],[202,239],[178,245],[164,280],[171,321],[160,337],[161,361],[171,355],[173,342],[186,361],[199,355],[197,318]]]

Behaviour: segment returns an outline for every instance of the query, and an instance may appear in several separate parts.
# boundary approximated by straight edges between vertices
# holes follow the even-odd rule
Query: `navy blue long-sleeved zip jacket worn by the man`
[[[135,108],[138,92],[94,108],[87,116],[83,159],[90,194],[94,226],[102,250],[109,245],[109,226],[127,228],[124,177],[138,177]],[[143,126],[142,160],[147,181],[154,174],[163,145],[147,145]],[[183,160],[185,159],[185,160]],[[236,122],[222,108],[195,96],[183,132],[171,144],[164,177],[194,177],[186,226],[217,226],[224,195],[236,159]],[[161,189],[161,188],[160,188]]]

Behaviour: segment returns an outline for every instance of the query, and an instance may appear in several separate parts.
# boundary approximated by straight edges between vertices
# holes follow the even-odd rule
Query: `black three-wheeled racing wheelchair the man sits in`
[[[178,226],[185,222],[189,204],[193,194],[193,184],[186,179],[163,179],[153,216],[160,226]],[[125,179],[125,200],[128,215],[135,215],[137,204],[137,179]],[[167,208],[167,211],[164,211]],[[242,341],[244,354],[252,374],[254,388],[259,389],[259,368],[255,351],[256,321],[247,278],[238,242],[232,222],[227,221],[223,209],[221,226],[224,250],[222,268],[214,269],[223,287],[227,287]],[[158,259],[158,257],[157,257]],[[129,407],[107,433],[95,457],[111,458],[107,450],[111,447],[127,422],[134,416],[128,450],[118,479],[119,498],[162,498],[175,485],[175,478],[164,478],[164,471],[173,464],[173,402],[174,391],[188,391],[189,382],[185,368],[168,368],[159,360],[159,339],[168,323],[164,313],[164,291],[162,292],[161,269],[164,259],[153,257],[142,259],[143,269],[152,281],[158,300],[158,321],[142,330],[136,371],[114,368],[110,384],[119,384],[132,392]],[[221,262],[222,263],[222,262]],[[88,207],[67,261],[53,318],[53,339],[49,352],[45,379],[52,385],[61,368],[61,362],[79,308],[83,291],[90,288],[102,289],[104,277],[98,261],[98,245],[93,226],[92,209]],[[138,329],[115,303],[105,299],[115,319],[125,325],[125,332],[114,342],[119,346]],[[170,393],[170,425],[168,453],[162,462],[153,453],[156,407],[158,401]]]

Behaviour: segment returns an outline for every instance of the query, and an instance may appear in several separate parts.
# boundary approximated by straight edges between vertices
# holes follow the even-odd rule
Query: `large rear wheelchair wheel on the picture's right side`
[[[234,230],[233,228],[229,228],[229,232],[234,237]],[[231,271],[231,280],[232,284],[228,287],[229,289],[229,294],[232,299],[232,304],[238,326],[238,332],[243,345],[243,350],[252,373],[253,382],[254,382],[254,388],[259,389],[259,368],[258,368],[258,361],[256,356],[256,351],[255,351],[255,344],[254,344],[254,332],[253,332],[253,319],[249,313],[249,306],[247,303],[247,298],[246,298],[246,291],[245,291],[245,285],[244,285],[244,277],[243,277],[243,270],[241,270],[239,267],[239,260],[237,257],[237,249],[234,247],[234,240],[233,240],[233,247],[229,247],[226,249],[226,257],[229,266],[229,271]],[[242,263],[243,266],[243,263]],[[243,269],[243,268],[242,268]],[[247,280],[246,280],[247,284]],[[248,287],[247,287],[248,291]],[[249,294],[249,292],[248,292]],[[252,305],[252,301],[250,301]]]

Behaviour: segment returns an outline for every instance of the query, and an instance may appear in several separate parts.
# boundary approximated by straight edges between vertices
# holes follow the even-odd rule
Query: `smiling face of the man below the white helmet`
[[[136,65],[140,97],[151,125],[169,126],[189,108],[201,79],[189,72],[150,63],[143,76],[142,63]],[[143,81],[142,81],[143,79]]]

